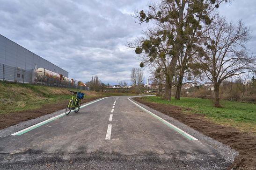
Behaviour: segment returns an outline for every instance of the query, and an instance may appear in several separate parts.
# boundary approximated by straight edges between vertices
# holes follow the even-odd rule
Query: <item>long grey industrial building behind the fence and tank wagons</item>
[[[0,34],[0,80],[31,82],[32,69],[45,68],[68,77],[68,72]]]

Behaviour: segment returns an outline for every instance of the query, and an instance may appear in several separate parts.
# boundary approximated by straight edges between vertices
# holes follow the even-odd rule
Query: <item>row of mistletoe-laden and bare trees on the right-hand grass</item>
[[[227,0],[162,0],[135,13],[139,24],[151,21],[144,36],[128,44],[136,48],[140,67],[154,68],[165,79],[163,99],[180,99],[184,82],[204,74],[213,84],[215,107],[219,85],[226,79],[255,72],[255,57],[245,43],[250,31],[241,21],[228,23],[216,8]],[[186,80],[184,76],[186,75]]]

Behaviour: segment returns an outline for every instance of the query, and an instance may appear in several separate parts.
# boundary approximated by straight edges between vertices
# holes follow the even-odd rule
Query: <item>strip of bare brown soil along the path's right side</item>
[[[241,133],[238,129],[215,124],[207,120],[204,115],[183,113],[177,106],[146,102],[141,97],[133,99],[237,150],[239,155],[229,169],[256,170],[256,136],[254,134]]]

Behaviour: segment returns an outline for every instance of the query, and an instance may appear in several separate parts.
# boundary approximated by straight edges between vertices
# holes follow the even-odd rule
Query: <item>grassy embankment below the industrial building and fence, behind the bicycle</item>
[[[66,102],[72,94],[69,88],[47,87],[31,84],[15,84],[0,81],[0,114],[40,109],[44,104]],[[80,89],[70,89],[85,93],[86,98],[115,95],[131,95],[129,93],[97,93]]]

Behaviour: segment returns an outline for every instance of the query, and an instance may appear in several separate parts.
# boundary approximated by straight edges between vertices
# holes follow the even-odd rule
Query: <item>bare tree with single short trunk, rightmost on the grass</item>
[[[250,56],[245,47],[250,31],[241,20],[234,25],[227,23],[225,18],[219,18],[204,35],[205,46],[199,51],[197,59],[214,85],[214,107],[221,107],[220,83],[232,76],[255,71],[255,57]]]

